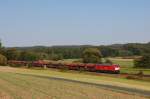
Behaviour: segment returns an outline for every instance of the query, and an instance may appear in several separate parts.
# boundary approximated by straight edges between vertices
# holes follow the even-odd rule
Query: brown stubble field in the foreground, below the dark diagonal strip
[[[0,99],[146,99],[94,85],[0,72]]]

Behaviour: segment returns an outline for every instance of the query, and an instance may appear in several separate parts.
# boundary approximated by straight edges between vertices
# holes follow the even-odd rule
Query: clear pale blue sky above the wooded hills
[[[4,46],[150,41],[150,0],[0,0]]]

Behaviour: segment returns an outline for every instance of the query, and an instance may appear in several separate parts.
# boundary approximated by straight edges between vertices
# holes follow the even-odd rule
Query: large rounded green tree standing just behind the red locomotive
[[[102,54],[97,48],[87,48],[83,51],[84,63],[101,63]]]

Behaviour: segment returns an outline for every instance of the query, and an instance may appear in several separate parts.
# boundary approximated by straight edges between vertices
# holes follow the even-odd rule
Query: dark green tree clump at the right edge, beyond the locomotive
[[[134,60],[135,67],[150,68],[150,54],[145,54],[141,59]]]

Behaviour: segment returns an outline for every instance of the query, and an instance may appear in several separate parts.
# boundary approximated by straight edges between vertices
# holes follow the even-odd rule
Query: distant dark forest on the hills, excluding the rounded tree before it
[[[113,44],[113,45],[76,45],[76,46],[34,46],[34,47],[7,47],[1,52],[5,56],[13,54],[32,54],[40,59],[76,59],[81,58],[83,50],[86,48],[98,48],[103,57],[128,57],[142,56],[150,53],[149,43],[128,43],[128,44]],[[30,55],[29,55],[30,56]],[[19,58],[8,56],[8,59]],[[14,59],[15,60],[15,59]]]

